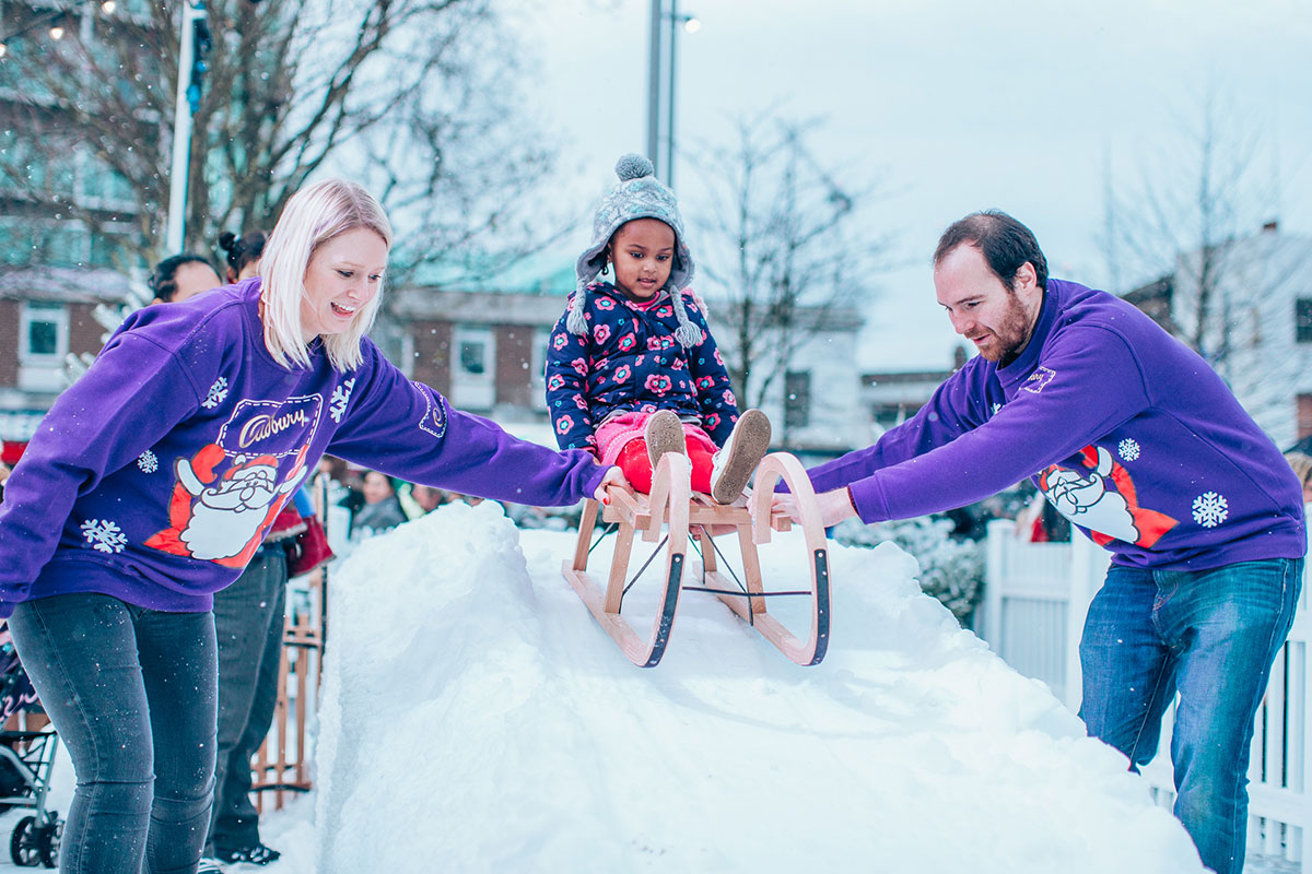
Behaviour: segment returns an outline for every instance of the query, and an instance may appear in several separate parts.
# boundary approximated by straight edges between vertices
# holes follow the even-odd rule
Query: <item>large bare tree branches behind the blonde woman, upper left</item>
[[[63,41],[16,41],[0,59],[0,131],[12,132],[0,197],[150,263],[169,254],[174,94],[190,76],[177,68],[182,4],[138,17],[85,7],[67,13]],[[396,252],[424,263],[530,248],[513,218],[554,155],[525,135],[517,52],[491,0],[209,0],[207,22],[186,249],[213,254],[222,231],[270,227],[324,172],[382,182]]]

